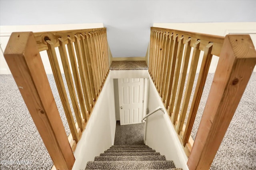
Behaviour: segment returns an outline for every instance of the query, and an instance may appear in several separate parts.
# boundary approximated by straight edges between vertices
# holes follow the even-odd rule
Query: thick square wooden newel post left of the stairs
[[[72,169],[75,158],[60,119],[32,32],[14,32],[4,57],[57,169]]]

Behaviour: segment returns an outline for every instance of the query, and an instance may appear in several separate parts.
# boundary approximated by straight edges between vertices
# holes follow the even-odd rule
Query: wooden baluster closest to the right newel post
[[[198,110],[200,99],[202,97],[202,93],[204,90],[204,84],[206,82],[206,78],[207,78],[210,64],[212,61],[212,54],[211,54],[212,45],[213,45],[213,43],[209,43],[208,45],[206,45],[205,50],[204,50],[204,57],[202,60],[202,65],[201,65],[200,72],[198,75],[198,80],[196,83],[196,90],[194,93],[193,101],[192,101],[190,112],[188,115],[188,121],[186,124],[185,132],[184,132],[184,135],[182,138],[182,142],[183,142],[184,146],[186,146],[186,143],[188,143],[188,139],[190,137],[191,130],[194,125],[195,118],[196,118],[196,113]],[[183,124],[182,122],[179,122],[178,132],[180,132],[182,130],[182,126],[183,126],[182,124]]]

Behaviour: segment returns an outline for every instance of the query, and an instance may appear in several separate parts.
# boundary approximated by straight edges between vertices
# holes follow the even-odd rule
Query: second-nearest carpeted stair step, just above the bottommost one
[[[94,161],[146,161],[146,160],[166,160],[164,155],[156,156],[96,156]]]

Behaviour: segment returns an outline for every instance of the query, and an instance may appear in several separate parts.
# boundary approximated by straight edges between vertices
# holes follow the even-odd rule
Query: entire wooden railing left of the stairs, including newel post
[[[65,90],[56,47],[69,93]],[[52,67],[70,136],[64,130],[42,63],[39,52],[44,50]],[[76,144],[109,72],[106,28],[14,32],[4,57],[56,169],[72,169]],[[68,94],[76,120],[72,116]]]

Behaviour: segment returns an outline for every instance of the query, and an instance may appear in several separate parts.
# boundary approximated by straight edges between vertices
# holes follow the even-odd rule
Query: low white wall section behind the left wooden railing
[[[79,29],[89,29],[89,28],[102,28],[104,27],[102,23],[92,23],[92,24],[58,24],[58,25],[31,25],[31,26],[0,26],[0,74],[11,74],[10,69],[4,59],[3,51],[6,48],[8,40],[12,32],[44,32],[44,31],[61,31],[61,30],[79,30]],[[68,50],[67,50],[68,51]],[[62,73],[63,67],[60,60],[60,55],[58,49],[56,49],[56,54],[58,57],[60,70]],[[47,74],[52,73],[50,62],[46,51],[40,52],[44,69]],[[111,52],[109,52],[111,56]],[[72,70],[71,66],[70,69]]]

